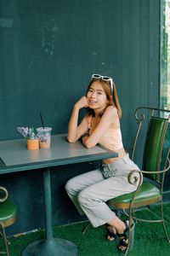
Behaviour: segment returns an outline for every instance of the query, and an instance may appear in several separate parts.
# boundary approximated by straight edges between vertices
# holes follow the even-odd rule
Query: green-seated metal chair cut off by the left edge
[[[9,255],[8,253],[8,241],[5,234],[5,228],[14,224],[16,219],[16,207],[14,202],[8,196],[7,189],[0,187],[0,235],[3,237],[5,251],[1,251],[0,254]]]

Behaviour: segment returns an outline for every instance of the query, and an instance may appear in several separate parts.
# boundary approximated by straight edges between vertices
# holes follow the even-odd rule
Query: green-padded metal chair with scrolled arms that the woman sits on
[[[107,201],[111,208],[117,209],[118,212],[121,210],[123,214],[128,217],[129,220],[129,242],[125,255],[129,252],[129,249],[133,243],[133,230],[130,228],[133,220],[135,222],[151,222],[151,223],[162,223],[167,241],[170,242],[169,236],[167,235],[165,219],[163,216],[163,184],[165,180],[165,174],[170,169],[170,143],[168,142],[167,154],[165,164],[162,167],[162,150],[165,137],[167,134],[167,125],[170,122],[170,110],[163,110],[158,108],[137,108],[135,111],[135,119],[139,124],[137,129],[136,137],[133,144],[133,154],[136,148],[137,140],[139,137],[139,131],[143,121],[146,120],[144,117],[145,111],[149,113],[149,125],[146,132],[144,152],[143,152],[143,166],[142,170],[133,170],[128,175],[128,182],[138,184],[136,191],[130,194],[121,195],[116,198]],[[166,113],[165,117],[160,117],[161,113]],[[137,175],[138,174],[138,175]],[[144,176],[144,182],[142,183]],[[142,184],[141,184],[142,183]],[[137,212],[135,211],[139,207],[149,207],[151,204],[160,203],[161,216],[159,219],[142,219],[137,218]],[[150,207],[149,207],[150,208]],[[153,213],[153,212],[152,212]]]

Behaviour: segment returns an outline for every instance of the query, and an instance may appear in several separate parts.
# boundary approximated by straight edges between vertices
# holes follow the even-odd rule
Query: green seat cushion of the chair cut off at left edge
[[[15,215],[16,207],[9,197],[6,201],[0,202],[0,222],[8,223],[9,219],[15,219]]]

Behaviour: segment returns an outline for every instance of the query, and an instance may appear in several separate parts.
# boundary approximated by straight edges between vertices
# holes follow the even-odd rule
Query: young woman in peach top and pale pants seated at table
[[[78,125],[81,108],[88,113]],[[128,221],[116,217],[105,203],[113,197],[127,194],[136,189],[128,183],[132,170],[139,170],[129,159],[122,144],[120,118],[122,110],[116,94],[116,86],[109,77],[94,74],[88,85],[86,96],[74,105],[68,126],[68,142],[76,143],[82,137],[87,148],[100,144],[118,154],[118,157],[102,160],[99,170],[71,178],[65,189],[80,214],[86,214],[94,227],[106,224],[107,239],[113,241],[119,236],[119,250],[126,252]]]

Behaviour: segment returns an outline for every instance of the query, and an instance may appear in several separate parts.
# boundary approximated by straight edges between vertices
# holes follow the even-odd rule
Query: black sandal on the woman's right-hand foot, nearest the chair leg
[[[126,253],[127,251],[127,247],[128,247],[128,222],[127,220],[123,221],[124,224],[125,224],[125,230],[122,234],[118,234],[117,233],[117,236],[119,236],[120,240],[119,240],[119,247],[118,247],[118,251],[120,253]],[[133,224],[131,225],[131,228],[133,227]],[[121,247],[124,247],[121,248]]]

